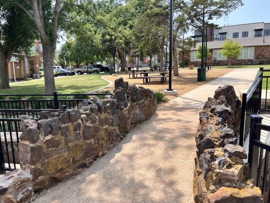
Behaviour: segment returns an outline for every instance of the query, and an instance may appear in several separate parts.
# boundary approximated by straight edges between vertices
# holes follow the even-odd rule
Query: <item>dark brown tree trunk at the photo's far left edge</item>
[[[9,89],[9,60],[0,50],[0,89]]]

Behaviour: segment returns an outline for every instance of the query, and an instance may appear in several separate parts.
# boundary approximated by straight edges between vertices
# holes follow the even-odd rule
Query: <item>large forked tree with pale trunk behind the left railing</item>
[[[55,57],[55,49],[57,43],[57,31],[59,21],[65,22],[65,17],[70,17],[67,11],[71,7],[76,7],[75,0],[5,0],[19,6],[28,15],[35,24],[37,31],[40,34],[40,39],[43,46],[44,56],[44,78],[45,78],[45,93],[53,93],[56,91],[53,61]],[[65,12],[62,12],[65,10]],[[60,13],[63,16],[60,16]],[[66,15],[64,15],[66,14]]]

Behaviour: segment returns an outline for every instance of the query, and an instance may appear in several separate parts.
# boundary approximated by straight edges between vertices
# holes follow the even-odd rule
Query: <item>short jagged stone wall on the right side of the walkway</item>
[[[241,101],[233,86],[219,87],[200,112],[194,173],[196,202],[263,202],[250,179],[250,168],[237,145]]]

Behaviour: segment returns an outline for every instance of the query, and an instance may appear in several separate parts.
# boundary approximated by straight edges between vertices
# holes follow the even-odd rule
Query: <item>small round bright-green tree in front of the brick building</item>
[[[229,66],[230,66],[230,60],[233,57],[237,57],[241,55],[241,48],[242,46],[239,44],[238,41],[233,41],[233,40],[226,40],[222,45],[221,45],[221,53],[223,56],[226,56],[227,59],[229,59]]]

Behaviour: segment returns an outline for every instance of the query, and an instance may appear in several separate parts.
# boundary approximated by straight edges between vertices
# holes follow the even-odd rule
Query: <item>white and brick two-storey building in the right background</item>
[[[228,65],[228,60],[220,52],[225,40],[238,41],[243,47],[239,57],[232,58],[232,65],[269,64],[270,63],[270,23],[249,23],[241,25],[223,26],[219,29],[209,28],[207,49],[210,56],[207,57],[208,65]],[[202,34],[195,31],[192,38],[199,42],[196,48],[190,51],[189,61],[197,66],[201,65],[201,59],[196,58],[196,52],[202,44]]]

